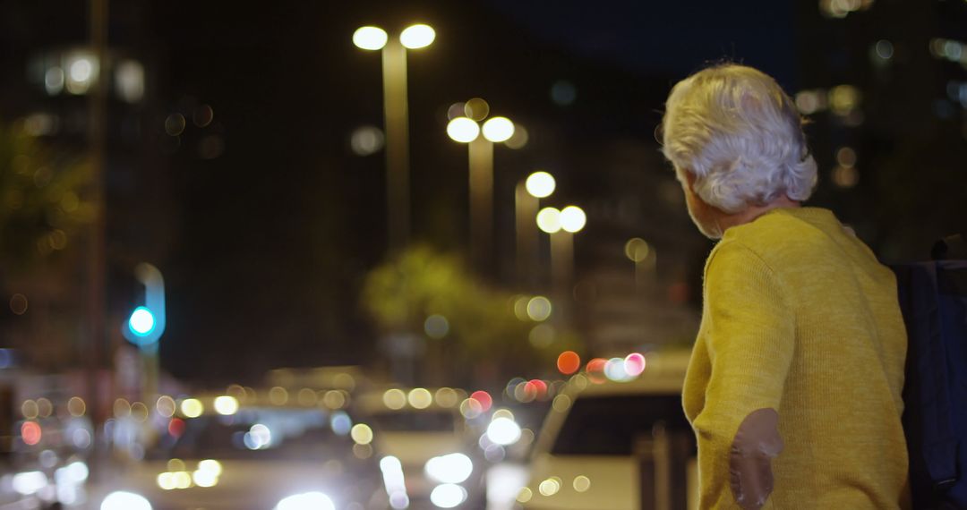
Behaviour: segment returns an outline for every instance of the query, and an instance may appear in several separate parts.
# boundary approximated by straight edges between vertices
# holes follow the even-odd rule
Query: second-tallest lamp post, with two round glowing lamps
[[[513,122],[491,117],[481,127],[467,117],[447,125],[455,142],[467,144],[470,162],[470,253],[474,267],[485,272],[493,245],[493,144],[513,136]],[[483,134],[483,136],[481,136]]]

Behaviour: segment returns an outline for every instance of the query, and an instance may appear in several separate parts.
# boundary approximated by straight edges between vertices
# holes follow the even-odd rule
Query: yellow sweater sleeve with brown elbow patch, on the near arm
[[[781,440],[775,419],[771,438],[761,432],[761,420],[749,422],[763,411],[779,411],[795,313],[773,269],[746,246],[726,241],[706,267],[703,315],[711,371],[704,407],[692,423],[700,507],[759,508],[773,489],[770,458],[781,450]],[[750,432],[756,429],[762,439]],[[758,473],[742,472],[749,466]]]

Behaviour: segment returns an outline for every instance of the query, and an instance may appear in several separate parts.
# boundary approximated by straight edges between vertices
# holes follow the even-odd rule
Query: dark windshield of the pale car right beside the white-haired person
[[[551,448],[553,455],[629,456],[634,441],[663,421],[688,428],[679,395],[582,396],[574,401]]]

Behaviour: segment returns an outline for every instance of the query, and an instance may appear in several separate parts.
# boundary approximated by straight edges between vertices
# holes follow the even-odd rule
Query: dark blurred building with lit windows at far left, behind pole
[[[25,131],[48,153],[52,178],[38,180],[38,192],[61,193],[60,205],[40,228],[56,234],[61,216],[90,215],[89,183],[76,180],[50,188],[70,165],[88,165],[91,94],[106,79],[103,164],[106,287],[105,336],[110,346],[95,363],[108,365],[120,345],[120,325],[143,296],[132,269],[142,261],[163,264],[175,233],[166,153],[166,102],[157,86],[163,72],[160,45],[148,30],[147,2],[111,5],[106,60],[89,44],[88,3],[6,2],[0,4],[0,123]],[[103,72],[101,72],[103,70]],[[184,121],[184,118],[182,119]],[[69,162],[61,164],[62,162]],[[36,161],[28,163],[37,166]],[[89,171],[78,175],[89,175]],[[46,187],[44,187],[46,186]],[[7,205],[9,206],[9,204]],[[36,264],[6,268],[0,278],[4,301],[20,295],[23,312],[0,312],[3,346],[21,350],[24,363],[46,370],[77,366],[90,353],[84,316],[87,298],[87,225],[49,243],[38,243]]]

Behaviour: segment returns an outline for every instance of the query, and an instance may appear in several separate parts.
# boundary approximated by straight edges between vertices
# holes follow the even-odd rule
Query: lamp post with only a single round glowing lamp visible
[[[514,189],[514,217],[517,227],[517,281],[530,279],[533,284],[538,266],[537,224],[532,218],[541,207],[541,199],[554,192],[554,177],[547,172],[534,172]]]

